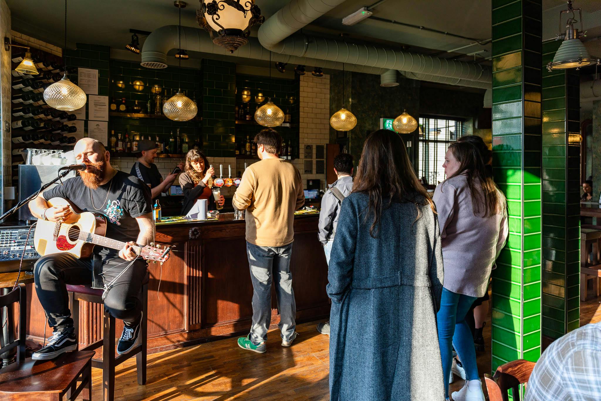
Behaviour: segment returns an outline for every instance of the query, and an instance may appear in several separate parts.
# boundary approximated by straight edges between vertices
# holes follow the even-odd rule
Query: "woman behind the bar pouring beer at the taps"
[[[185,173],[180,174],[179,182],[184,194],[184,206],[182,215],[186,215],[198,199],[209,200],[209,209],[216,209],[216,202],[223,206],[225,198],[219,195],[219,200],[215,201],[211,187],[213,186],[213,176],[215,169],[209,167],[209,161],[203,152],[192,149],[186,155]]]

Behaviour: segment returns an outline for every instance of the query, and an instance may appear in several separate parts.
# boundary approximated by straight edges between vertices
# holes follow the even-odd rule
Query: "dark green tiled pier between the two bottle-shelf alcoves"
[[[236,64],[203,59],[203,148],[207,156],[236,156]]]

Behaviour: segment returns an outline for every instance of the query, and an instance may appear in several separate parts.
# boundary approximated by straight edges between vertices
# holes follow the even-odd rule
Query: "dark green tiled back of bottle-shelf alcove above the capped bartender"
[[[167,67],[165,69],[148,69],[140,66],[140,63],[132,63],[130,61],[110,60],[111,82],[109,82],[109,101],[117,100],[117,104],[121,103],[120,99],[126,99],[128,108],[132,107],[136,100],[146,110],[148,96],[151,96],[151,87],[159,85],[163,91],[167,91],[168,96],[177,92],[178,86],[185,92],[186,96],[197,100],[198,114],[202,111],[202,105],[198,103],[200,97],[200,70],[186,69],[181,70],[178,67]],[[181,74],[181,75],[180,75]],[[132,83],[139,79],[144,82],[142,91],[136,91]],[[119,88],[117,82],[123,81],[124,88]],[[163,92],[165,93],[165,92]],[[154,107],[154,105],[153,105]],[[159,136],[162,141],[170,136],[171,132],[176,133],[180,129],[180,135],[188,135],[191,142],[201,139],[201,122],[198,120],[191,121],[171,121],[168,118],[129,118],[129,117],[109,117],[109,134],[110,130],[115,130],[115,133],[135,132],[141,133],[144,138],[148,135],[151,138]]]

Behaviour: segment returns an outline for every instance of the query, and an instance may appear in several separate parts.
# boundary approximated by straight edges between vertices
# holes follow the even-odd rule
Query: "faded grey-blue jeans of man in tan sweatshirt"
[[[292,289],[290,257],[292,243],[284,246],[258,246],[246,242],[248,265],[252,281],[252,326],[250,339],[257,345],[267,340],[271,323],[271,283],[278,297],[279,329],[281,337],[290,341],[296,329],[296,302]]]

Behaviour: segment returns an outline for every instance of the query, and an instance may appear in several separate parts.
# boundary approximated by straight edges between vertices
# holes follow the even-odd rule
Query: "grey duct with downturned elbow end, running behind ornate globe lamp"
[[[167,53],[178,48],[177,25],[166,25],[157,28],[144,41],[142,46],[142,61],[140,65],[151,69],[167,67]],[[217,46],[207,32],[200,28],[182,26],[182,49],[193,52],[227,55],[228,57],[254,58],[255,60],[269,61],[269,51],[259,43],[255,37],[248,38],[248,44],[240,47],[234,54],[230,54],[221,46]],[[302,64],[304,66],[322,67],[325,69],[342,70],[343,63],[316,60],[307,57],[293,57],[289,55],[273,54],[272,61],[282,63]],[[385,70],[379,67],[345,64],[347,71],[362,72],[367,74],[381,74]]]

